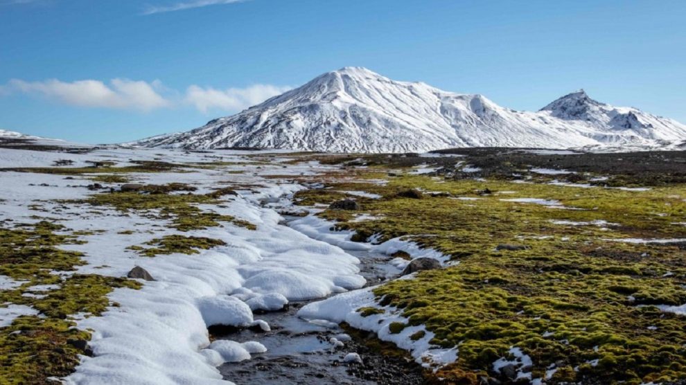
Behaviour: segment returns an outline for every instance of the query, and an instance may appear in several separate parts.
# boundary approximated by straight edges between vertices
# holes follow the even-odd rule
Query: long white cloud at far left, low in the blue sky
[[[9,91],[45,96],[51,100],[78,107],[150,111],[171,105],[169,100],[158,93],[161,87],[159,80],[148,83],[113,79],[108,85],[100,82],[100,80],[62,82],[53,79],[44,82],[26,82],[13,79],[3,88]]]

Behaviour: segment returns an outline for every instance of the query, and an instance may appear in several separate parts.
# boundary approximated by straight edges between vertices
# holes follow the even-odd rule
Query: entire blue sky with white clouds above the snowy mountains
[[[686,122],[686,1],[0,0],[0,128],[184,131],[342,66],[535,110]]]

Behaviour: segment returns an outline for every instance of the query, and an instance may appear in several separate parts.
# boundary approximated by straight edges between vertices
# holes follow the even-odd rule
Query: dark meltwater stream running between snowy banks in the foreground
[[[388,264],[392,257],[368,251],[348,252],[360,259],[360,275],[367,279],[367,285],[376,285],[400,273]],[[214,334],[216,339],[259,341],[267,348],[267,352],[252,359],[223,364],[220,373],[237,385],[423,383],[421,366],[411,359],[387,357],[362,343],[361,339],[376,338],[376,334],[351,339],[334,323],[312,323],[299,318],[298,310],[313,301],[291,302],[281,312],[260,314],[259,318],[269,323],[270,332],[245,329]],[[336,341],[343,346],[336,346]],[[362,364],[345,363],[344,357],[350,352],[358,353]]]

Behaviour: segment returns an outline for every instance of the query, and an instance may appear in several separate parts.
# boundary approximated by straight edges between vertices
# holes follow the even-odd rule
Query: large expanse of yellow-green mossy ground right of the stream
[[[398,307],[410,325],[434,332],[436,346],[459,346],[457,362],[436,377],[466,384],[477,384],[482,375],[498,377],[493,361],[518,346],[533,359],[534,378],[543,378],[551,365],[559,368],[548,384],[686,379],[686,318],[651,306],[686,303],[685,247],[612,241],[686,238],[679,224],[686,217],[685,186],[626,191],[453,180],[406,170],[392,175],[385,185],[334,182],[295,198],[313,205],[352,197],[338,193],[345,190],[382,195],[356,197],[362,211],[320,215],[356,231],[355,240],[406,236],[460,261],[375,290],[380,303]],[[360,177],[364,172],[355,171]],[[423,190],[424,199],[398,196],[410,188]],[[520,197],[556,200],[562,207],[502,200]],[[360,213],[377,219],[351,221]],[[553,222],[598,220],[616,225]],[[495,251],[498,244],[528,249]],[[392,332],[404,327],[398,323]]]

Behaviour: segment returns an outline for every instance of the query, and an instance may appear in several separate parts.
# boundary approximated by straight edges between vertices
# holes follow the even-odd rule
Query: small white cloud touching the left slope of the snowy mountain
[[[206,113],[210,109],[223,111],[240,111],[260,102],[280,95],[291,87],[278,87],[271,84],[254,84],[246,88],[229,88],[227,90],[192,85],[186,90],[185,102]]]

